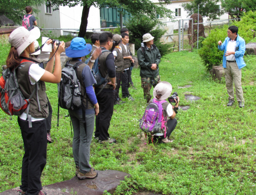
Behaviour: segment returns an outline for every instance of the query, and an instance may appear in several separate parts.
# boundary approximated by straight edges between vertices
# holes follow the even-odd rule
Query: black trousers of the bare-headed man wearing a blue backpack
[[[99,90],[99,88],[95,88],[95,94],[97,94]],[[114,111],[115,98],[115,90],[112,90],[109,92],[102,91],[96,96],[98,100],[99,113],[95,120],[95,137],[98,137],[99,140],[107,140],[109,137],[108,128]]]

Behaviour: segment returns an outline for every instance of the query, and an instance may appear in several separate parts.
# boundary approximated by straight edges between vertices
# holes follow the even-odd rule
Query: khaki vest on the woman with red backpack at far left
[[[19,88],[23,96],[28,99],[32,94],[32,91],[36,87],[35,85],[31,85],[29,80],[29,68],[31,64],[34,62],[26,62],[21,64],[16,69],[17,81],[19,84]],[[38,101],[37,101],[37,93],[40,101],[41,111],[39,111]],[[42,81],[39,81],[39,90],[36,91],[34,96],[30,100],[29,112],[34,118],[47,118],[49,115],[49,108],[47,105],[47,96],[46,96],[46,84]],[[25,113],[27,110],[24,111]]]

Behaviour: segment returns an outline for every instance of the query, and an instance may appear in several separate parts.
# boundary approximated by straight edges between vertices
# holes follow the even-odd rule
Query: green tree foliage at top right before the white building
[[[194,0],[189,3],[183,3],[182,7],[190,17],[192,14],[198,13],[198,5],[199,5],[199,14],[203,17],[208,17],[207,20],[217,20],[223,13],[222,10],[219,9],[219,5],[217,3],[220,0]]]

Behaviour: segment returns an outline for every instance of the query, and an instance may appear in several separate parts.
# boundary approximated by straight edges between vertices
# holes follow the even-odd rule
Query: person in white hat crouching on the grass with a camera
[[[171,95],[171,93],[172,93],[172,85],[166,81],[163,81],[154,87],[153,97],[157,101],[162,101],[168,98]],[[149,104],[152,101],[153,100],[151,99],[149,101]],[[179,102],[180,102],[180,98],[178,96],[177,96],[177,101],[175,100],[175,102],[176,102],[175,108],[178,108]],[[163,117],[167,118],[166,129],[168,128],[168,130],[166,132],[166,137],[164,137],[164,135],[161,135],[161,133],[160,134],[157,133],[155,134],[154,139],[157,139],[160,143],[170,143],[172,142],[172,140],[170,140],[169,137],[177,125],[177,120],[175,119],[176,113],[173,111],[174,106],[172,106],[169,102],[164,102],[162,104],[162,107],[163,107]]]

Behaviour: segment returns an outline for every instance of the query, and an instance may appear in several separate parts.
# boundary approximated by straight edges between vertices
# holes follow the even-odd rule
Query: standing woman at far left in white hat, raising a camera
[[[25,110],[18,117],[25,150],[19,194],[46,194],[46,192],[42,192],[40,180],[42,170],[46,165],[47,129],[45,119],[49,114],[44,82],[59,83],[61,80],[60,54],[64,51],[64,42],[59,45],[58,50],[54,43],[54,49],[50,53],[51,57],[57,50],[52,73],[54,58],[47,63],[45,70],[29,60],[30,53],[35,51],[34,41],[39,37],[39,28],[28,31],[24,27],[19,27],[10,34],[8,40],[11,48],[6,60],[7,68],[12,69],[23,63],[16,69],[21,93],[26,99],[29,99],[32,91],[39,84],[39,90],[31,98],[29,111]],[[47,43],[52,43],[52,40],[49,39]]]

